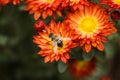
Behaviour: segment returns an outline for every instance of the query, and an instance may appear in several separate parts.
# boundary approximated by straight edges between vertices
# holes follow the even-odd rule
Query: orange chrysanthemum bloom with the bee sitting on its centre
[[[44,62],[62,60],[64,63],[70,58],[70,48],[75,47],[72,43],[72,30],[64,23],[56,24],[51,21],[43,32],[34,36],[34,43],[41,48],[38,55],[44,57]]]

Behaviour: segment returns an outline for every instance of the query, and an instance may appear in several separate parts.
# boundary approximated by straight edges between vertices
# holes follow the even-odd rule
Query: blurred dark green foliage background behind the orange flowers
[[[33,15],[23,10],[24,5],[0,6],[0,80],[73,80],[61,62],[44,63],[37,55],[39,48],[32,42],[36,34]],[[119,29],[120,21],[116,24]],[[99,80],[110,76],[120,80],[120,38],[118,33],[108,37],[105,51],[84,54],[84,59],[95,55],[98,59],[96,71],[85,80]],[[80,48],[72,51],[71,56],[81,56]]]

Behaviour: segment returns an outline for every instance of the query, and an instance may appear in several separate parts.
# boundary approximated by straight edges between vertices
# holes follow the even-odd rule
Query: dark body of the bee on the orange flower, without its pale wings
[[[49,38],[58,46],[58,47],[63,47],[63,42],[61,39],[59,39],[55,34],[50,33]]]

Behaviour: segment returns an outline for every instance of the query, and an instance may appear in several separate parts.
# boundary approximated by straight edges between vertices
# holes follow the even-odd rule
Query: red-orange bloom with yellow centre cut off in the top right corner
[[[109,10],[116,9],[116,8],[120,9],[120,0],[102,0],[100,4],[110,6]]]

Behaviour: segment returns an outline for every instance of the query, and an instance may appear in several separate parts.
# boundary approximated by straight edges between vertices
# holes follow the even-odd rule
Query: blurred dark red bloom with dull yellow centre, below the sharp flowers
[[[77,61],[75,59],[71,59],[69,61],[68,69],[76,80],[78,78],[88,77],[96,69],[96,58],[92,58],[89,61]]]

